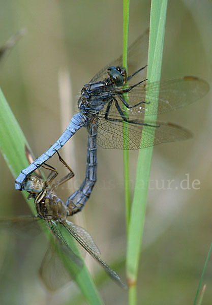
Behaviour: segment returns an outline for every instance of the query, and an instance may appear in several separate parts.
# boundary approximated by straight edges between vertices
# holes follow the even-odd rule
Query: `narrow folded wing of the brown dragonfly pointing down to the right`
[[[84,232],[82,233],[82,235],[79,235],[78,232],[80,231],[78,230],[78,228],[76,228],[76,225],[74,225],[72,222],[66,221],[66,223],[63,225],[67,229],[67,231],[69,231],[69,233],[80,243],[80,245],[104,267],[108,275],[114,281],[116,281],[120,286],[126,288],[126,285],[122,282],[122,280],[117,275],[117,273],[114,270],[112,270],[103,260],[101,260],[92,248],[90,248],[89,244],[87,244],[86,242],[87,236],[86,238],[84,238]],[[87,234],[89,233],[86,232],[86,235]]]

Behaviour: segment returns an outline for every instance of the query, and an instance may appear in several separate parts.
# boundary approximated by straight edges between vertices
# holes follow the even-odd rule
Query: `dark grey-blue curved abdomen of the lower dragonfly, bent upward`
[[[97,181],[97,128],[97,124],[89,126],[89,134],[87,138],[86,177],[80,188],[66,201],[66,206],[69,208],[70,215],[81,211],[85,202],[90,197]]]

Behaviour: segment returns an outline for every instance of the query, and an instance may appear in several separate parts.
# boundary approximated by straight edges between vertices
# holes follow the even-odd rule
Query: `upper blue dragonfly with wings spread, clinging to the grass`
[[[122,56],[119,56],[83,86],[78,100],[79,112],[73,115],[58,140],[21,170],[15,181],[16,190],[23,190],[26,177],[51,158],[82,127],[87,128],[88,137],[93,139],[95,164],[97,144],[103,148],[139,149],[191,138],[192,134],[183,127],[148,121],[147,117],[201,99],[208,92],[209,85],[194,76],[146,83],[147,79],[142,75],[146,71],[144,61],[146,63],[148,35],[147,30],[128,48],[128,74],[122,67]],[[136,70],[139,65],[142,68]],[[123,123],[127,126],[124,130]],[[144,141],[141,141],[141,136]],[[89,182],[94,185],[95,181],[90,179]]]

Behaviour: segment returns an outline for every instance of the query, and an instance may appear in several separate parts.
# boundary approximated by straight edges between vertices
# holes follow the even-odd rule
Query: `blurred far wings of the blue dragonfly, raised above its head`
[[[147,54],[148,54],[148,37],[149,29],[140,35],[128,48],[128,75],[133,74],[139,68],[144,67],[147,64]],[[110,66],[120,66],[122,67],[123,57],[122,55],[113,60],[103,69],[101,69],[93,78],[90,83],[103,80],[108,77],[107,68]],[[146,71],[144,71],[146,74]],[[140,79],[145,78],[139,73]],[[134,78],[133,78],[134,79]]]

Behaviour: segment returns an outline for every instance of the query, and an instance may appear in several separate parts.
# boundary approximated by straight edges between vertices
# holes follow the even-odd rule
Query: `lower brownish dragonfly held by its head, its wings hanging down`
[[[59,161],[62,162],[66,168],[69,170],[69,173],[54,182],[54,179],[58,175],[58,171],[56,171],[52,166],[47,165],[46,163],[42,165],[43,168],[50,171],[46,180],[37,176],[37,175],[29,175],[24,181],[24,190],[29,193],[28,198],[34,199],[34,204],[36,207],[37,215],[33,217],[26,217],[25,220],[28,221],[38,221],[42,220],[50,231],[51,235],[60,243],[62,246],[63,253],[65,252],[66,256],[68,253],[68,257],[72,259],[72,261],[76,262],[80,267],[81,261],[79,257],[72,251],[69,247],[66,239],[64,238],[61,229],[59,226],[65,228],[65,230],[75,239],[77,242],[90,254],[92,255],[98,263],[105,269],[108,275],[121,287],[127,288],[127,286],[120,280],[120,277],[117,273],[112,270],[101,258],[99,257],[100,251],[97,247],[95,241],[92,236],[82,227],[72,223],[68,220],[68,217],[73,215],[73,209],[75,205],[72,202],[68,201],[66,204],[56,195],[55,190],[67,182],[74,176],[74,172],[69,167],[69,165],[64,161],[62,157],[60,157],[59,153],[56,151]],[[17,220],[17,218],[16,218]],[[21,221],[23,221],[23,217],[21,217]],[[61,248],[61,247],[60,247]],[[65,249],[64,249],[65,248]],[[48,255],[49,256],[49,255]],[[51,255],[50,255],[51,256]],[[42,268],[43,278],[47,278],[48,276],[44,274],[46,272],[52,272],[48,270],[47,267]],[[49,287],[49,284],[46,286]]]

